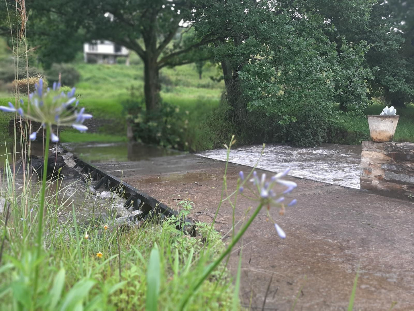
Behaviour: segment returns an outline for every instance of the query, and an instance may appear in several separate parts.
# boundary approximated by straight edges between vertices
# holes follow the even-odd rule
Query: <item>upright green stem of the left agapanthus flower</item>
[[[39,228],[37,232],[37,252],[36,258],[40,258],[42,250],[42,238],[43,238],[43,214],[45,210],[45,193],[46,193],[46,177],[48,170],[48,157],[49,157],[49,140],[50,140],[50,126],[46,126],[46,143],[45,154],[43,157],[43,175],[42,175],[42,187],[40,190],[40,207],[39,207]],[[34,277],[34,294],[37,291],[37,280],[39,278],[39,265],[36,265],[35,277]]]

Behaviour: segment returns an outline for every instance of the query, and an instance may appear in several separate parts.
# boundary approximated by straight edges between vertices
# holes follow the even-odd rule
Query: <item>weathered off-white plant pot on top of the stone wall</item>
[[[392,141],[400,116],[367,116],[369,134],[378,143]]]

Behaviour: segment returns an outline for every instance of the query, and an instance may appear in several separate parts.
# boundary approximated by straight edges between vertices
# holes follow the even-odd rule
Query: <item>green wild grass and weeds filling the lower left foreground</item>
[[[13,182],[11,171],[3,177]],[[4,186],[3,183],[1,197],[7,208],[0,218],[5,228],[1,234],[1,310],[73,310],[75,306],[86,310],[142,310],[152,286],[148,277],[154,265],[151,254],[155,245],[159,253],[158,309],[177,310],[188,293],[191,295],[186,310],[199,310],[200,304],[207,301],[210,310],[229,310],[238,305],[227,272],[221,277],[219,272],[209,274],[199,290],[191,291],[205,267],[225,249],[221,235],[210,232],[209,225],[198,223],[199,235],[195,238],[176,230],[174,218],[143,221],[140,227],[118,226],[113,200],[103,205],[91,200],[89,194],[89,199],[87,195],[75,200],[80,204],[64,203],[65,195],[76,198],[84,193],[66,194],[64,186],[54,192],[48,183],[44,242],[37,257],[34,245],[40,217],[39,187],[26,180],[19,194],[15,188]],[[108,216],[95,210],[106,211]],[[41,282],[35,290],[34,271],[39,265]]]

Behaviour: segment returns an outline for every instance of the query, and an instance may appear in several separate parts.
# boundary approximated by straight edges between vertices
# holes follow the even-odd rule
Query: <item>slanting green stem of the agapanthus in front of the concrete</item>
[[[262,209],[263,204],[260,203],[259,206],[255,209],[253,212],[253,215],[249,218],[247,223],[240,229],[240,231],[237,233],[237,236],[233,239],[233,241],[230,243],[230,245],[226,248],[224,253],[221,254],[221,256],[214,261],[208,269],[203,273],[200,280],[195,284],[193,288],[188,289],[187,294],[184,296],[183,302],[181,303],[180,310],[182,311],[185,308],[185,305],[188,303],[188,300],[191,298],[193,293],[197,291],[197,289],[201,286],[201,284],[207,279],[207,277],[213,272],[213,270],[220,264],[220,262],[231,252],[234,245],[237,244],[238,240],[243,236],[243,234],[246,232],[247,228],[250,226],[250,224],[253,222],[253,220],[256,218],[256,216],[259,214],[260,210]]]

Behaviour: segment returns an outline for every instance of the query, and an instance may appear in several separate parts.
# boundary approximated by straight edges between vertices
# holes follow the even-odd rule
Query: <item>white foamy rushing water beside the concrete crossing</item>
[[[231,150],[229,162],[253,167],[260,158],[262,146],[245,146]],[[226,149],[204,151],[198,155],[226,160]],[[289,175],[350,188],[360,188],[361,146],[323,144],[315,148],[286,145],[265,147],[257,168],[280,172],[291,168]]]

